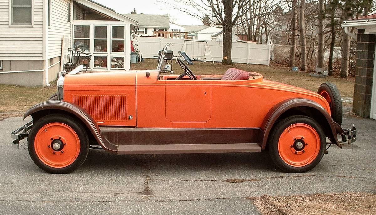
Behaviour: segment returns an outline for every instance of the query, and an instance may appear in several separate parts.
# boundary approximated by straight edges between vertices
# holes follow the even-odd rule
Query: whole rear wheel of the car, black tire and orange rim
[[[274,126],[269,144],[270,157],[277,167],[288,173],[303,173],[320,162],[326,141],[315,120],[296,115]]]

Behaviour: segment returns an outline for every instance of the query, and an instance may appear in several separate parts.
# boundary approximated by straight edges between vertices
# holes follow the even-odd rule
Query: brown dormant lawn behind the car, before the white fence
[[[131,70],[148,70],[155,69],[157,66],[156,59],[145,59],[144,62],[131,64]],[[257,64],[235,64],[233,66],[221,65],[220,63],[212,62],[198,62],[194,61],[194,65],[189,65],[194,74],[223,74],[228,68],[234,67],[244,71],[253,71],[261,73],[265,79],[273,80],[276,82],[286,83],[293,86],[305,88],[317,92],[318,87],[323,82],[333,82],[340,90],[341,97],[344,99],[344,106],[352,106],[352,98],[354,95],[354,78],[343,79],[340,77],[312,77],[307,72],[294,72],[291,68],[271,64],[257,65]],[[173,61],[173,70],[176,75],[180,75],[183,70],[179,64]],[[162,73],[164,75],[164,73]],[[167,75],[167,73],[166,73]]]

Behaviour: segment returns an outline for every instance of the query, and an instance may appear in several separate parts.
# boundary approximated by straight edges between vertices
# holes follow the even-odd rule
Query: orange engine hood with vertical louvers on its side
[[[88,112],[101,126],[136,126],[135,71],[67,75],[64,100]]]

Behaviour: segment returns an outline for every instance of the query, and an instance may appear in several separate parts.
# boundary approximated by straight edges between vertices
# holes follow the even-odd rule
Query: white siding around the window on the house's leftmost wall
[[[10,26],[9,0],[0,0],[0,59],[42,60],[42,0],[32,0],[31,26]]]

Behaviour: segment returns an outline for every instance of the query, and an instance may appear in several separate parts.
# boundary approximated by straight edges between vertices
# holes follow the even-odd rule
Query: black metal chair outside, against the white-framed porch
[[[85,66],[86,73],[88,67],[90,66],[91,55],[74,48],[68,48],[68,58],[64,60],[64,68],[67,73],[72,71],[74,68],[78,67],[80,64]]]

